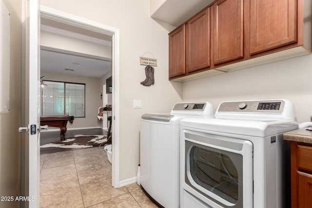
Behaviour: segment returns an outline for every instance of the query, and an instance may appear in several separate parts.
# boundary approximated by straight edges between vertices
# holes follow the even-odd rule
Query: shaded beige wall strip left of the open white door
[[[3,0],[10,12],[10,112],[0,114],[0,196],[20,196],[21,189],[21,0]],[[1,34],[0,34],[1,38]],[[2,69],[0,69],[2,70]],[[18,201],[0,207],[17,208]]]

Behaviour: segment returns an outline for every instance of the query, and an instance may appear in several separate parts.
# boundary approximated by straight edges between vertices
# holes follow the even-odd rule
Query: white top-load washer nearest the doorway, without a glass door
[[[170,113],[141,117],[140,185],[165,208],[180,207],[180,120],[187,116],[213,117],[208,102],[176,103]]]

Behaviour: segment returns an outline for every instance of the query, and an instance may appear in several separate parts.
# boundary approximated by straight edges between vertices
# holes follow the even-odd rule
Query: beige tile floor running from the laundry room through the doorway
[[[103,147],[40,155],[40,208],[157,208],[136,183],[114,189]]]

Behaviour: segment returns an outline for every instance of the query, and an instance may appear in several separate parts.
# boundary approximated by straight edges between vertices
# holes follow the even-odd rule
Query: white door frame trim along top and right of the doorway
[[[112,75],[114,86],[112,94],[112,118],[114,118],[112,121],[112,186],[114,188],[119,188],[119,29],[42,5],[40,6],[40,17],[86,30],[95,31],[112,37]]]

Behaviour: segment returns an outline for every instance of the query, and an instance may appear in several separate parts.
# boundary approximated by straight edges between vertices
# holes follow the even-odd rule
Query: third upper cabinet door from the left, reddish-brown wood
[[[214,4],[214,63],[220,64],[244,56],[243,2],[218,0]]]

